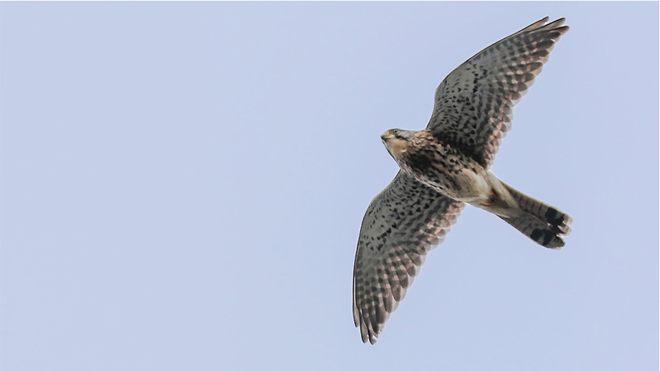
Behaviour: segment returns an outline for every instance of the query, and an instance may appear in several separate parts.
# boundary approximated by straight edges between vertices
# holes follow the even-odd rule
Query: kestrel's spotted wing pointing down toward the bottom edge
[[[399,171],[366,210],[353,269],[353,319],[376,342],[426,253],[443,240],[463,203]]]

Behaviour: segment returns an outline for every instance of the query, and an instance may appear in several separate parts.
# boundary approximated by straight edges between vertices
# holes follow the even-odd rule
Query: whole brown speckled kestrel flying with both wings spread
[[[399,165],[366,210],[353,268],[353,319],[362,341],[376,339],[428,251],[465,203],[492,212],[534,242],[564,246],[571,218],[523,194],[488,169],[511,128],[513,106],[540,74],[566,31],[564,19],[541,19],[483,49],[435,91],[425,129],[381,135]]]

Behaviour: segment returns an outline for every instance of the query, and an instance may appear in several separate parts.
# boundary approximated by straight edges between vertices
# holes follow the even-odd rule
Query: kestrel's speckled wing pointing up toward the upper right
[[[564,19],[548,18],[483,49],[454,69],[435,91],[427,129],[489,166],[511,128],[514,105],[532,85],[562,34]]]

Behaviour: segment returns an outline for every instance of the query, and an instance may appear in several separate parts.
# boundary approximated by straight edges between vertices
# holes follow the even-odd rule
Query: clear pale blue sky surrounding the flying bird
[[[657,370],[659,5],[1,3],[1,368]],[[375,346],[360,222],[435,87],[565,16],[493,171]]]

